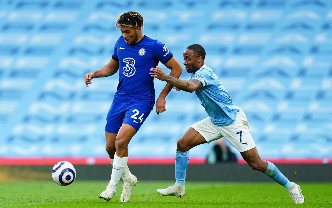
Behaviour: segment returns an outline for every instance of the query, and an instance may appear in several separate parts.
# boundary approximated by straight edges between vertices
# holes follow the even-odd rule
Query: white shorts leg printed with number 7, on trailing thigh
[[[219,132],[239,152],[256,147],[254,139],[250,134],[247,117],[242,110],[237,112],[234,122],[227,126],[219,126]]]

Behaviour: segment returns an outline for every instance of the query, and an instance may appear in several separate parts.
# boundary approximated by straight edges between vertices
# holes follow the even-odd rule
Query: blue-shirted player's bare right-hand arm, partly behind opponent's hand
[[[165,66],[171,70],[171,73],[169,74],[172,77],[179,78],[182,74],[182,68],[179,62],[175,59],[173,56],[166,64]],[[162,113],[166,110],[166,96],[168,93],[172,90],[173,86],[166,83],[164,89],[160,92],[160,95],[156,101],[156,112],[159,115],[159,113]]]

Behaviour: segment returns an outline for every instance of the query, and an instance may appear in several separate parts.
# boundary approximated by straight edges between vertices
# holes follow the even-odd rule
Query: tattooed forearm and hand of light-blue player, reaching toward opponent
[[[166,81],[167,83],[173,85],[174,87],[178,88],[179,90],[183,90],[183,91],[192,93],[195,90],[203,87],[203,83],[197,79],[191,79],[190,81],[180,80],[178,78],[167,75],[164,72],[164,70],[162,70],[159,67],[151,68],[150,71],[151,71],[150,72],[151,77],[155,77],[159,80]]]

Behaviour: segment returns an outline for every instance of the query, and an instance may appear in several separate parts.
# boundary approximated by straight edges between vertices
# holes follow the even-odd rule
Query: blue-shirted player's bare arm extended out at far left
[[[89,87],[88,84],[91,84],[91,80],[95,77],[108,77],[114,75],[119,70],[119,61],[111,58],[110,62],[103,66],[102,68],[95,70],[93,72],[89,72],[85,74],[84,81],[85,86]]]

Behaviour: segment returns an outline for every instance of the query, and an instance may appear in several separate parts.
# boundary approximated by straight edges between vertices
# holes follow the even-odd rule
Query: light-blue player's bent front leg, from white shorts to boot
[[[182,198],[185,195],[186,171],[189,162],[189,150],[199,144],[221,138],[214,129],[210,118],[205,118],[192,125],[177,141],[175,157],[175,184],[166,189],[157,189],[163,196],[176,196]]]

